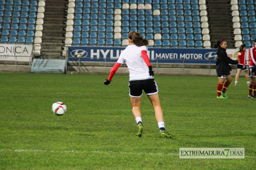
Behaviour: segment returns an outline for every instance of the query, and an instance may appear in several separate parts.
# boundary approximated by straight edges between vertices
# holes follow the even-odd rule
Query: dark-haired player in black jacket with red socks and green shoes
[[[219,79],[217,86],[217,98],[228,98],[226,90],[232,81],[232,77],[230,75],[231,67],[229,64],[238,64],[238,61],[232,60],[228,57],[228,54],[226,53],[227,42],[224,39],[219,40],[214,47],[218,48],[216,61],[216,71]],[[227,79],[227,81],[224,84],[225,79]],[[224,88],[222,89],[223,84]]]

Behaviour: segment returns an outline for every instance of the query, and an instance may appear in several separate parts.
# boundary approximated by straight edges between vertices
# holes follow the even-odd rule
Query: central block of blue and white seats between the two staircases
[[[69,1],[68,15],[75,17],[69,19],[73,21],[67,21],[66,30],[69,33],[66,34],[65,45],[127,46],[127,34],[134,30],[150,40],[149,46],[202,48],[202,27],[209,27],[207,16],[201,15],[206,9],[205,3],[204,0]],[[76,37],[78,34],[91,35],[92,32],[94,37],[87,37],[88,41],[84,43],[83,37]],[[70,36],[72,34],[73,37]],[[185,38],[177,38],[177,43],[171,43],[170,40],[175,37]],[[207,37],[209,39],[209,33]]]

